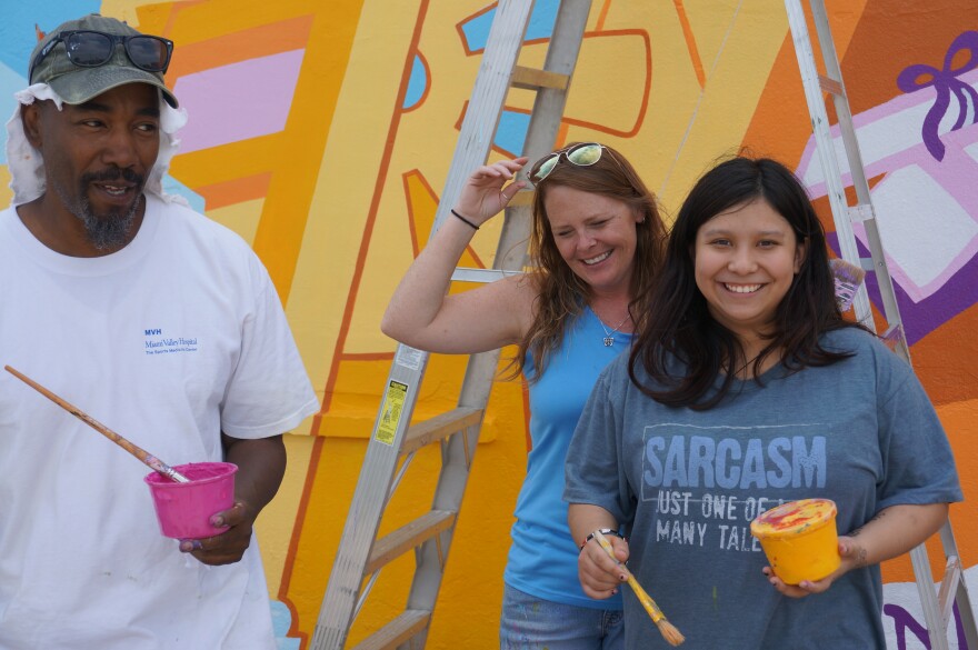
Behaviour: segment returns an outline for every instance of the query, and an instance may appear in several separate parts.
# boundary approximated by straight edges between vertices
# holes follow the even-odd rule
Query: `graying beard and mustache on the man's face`
[[[107,182],[123,179],[136,186],[136,198],[126,208],[110,210],[97,214],[88,199],[89,186],[93,182]],[[129,243],[129,229],[139,211],[139,200],[142,198],[142,188],[146,179],[131,169],[109,169],[99,173],[84,173],[78,183],[78,194],[69,197],[64,187],[54,184],[54,191],[68,210],[78,217],[84,224],[84,232],[96,250],[119,249]]]

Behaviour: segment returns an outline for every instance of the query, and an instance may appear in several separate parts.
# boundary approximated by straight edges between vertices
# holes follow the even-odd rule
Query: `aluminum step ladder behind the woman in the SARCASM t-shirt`
[[[811,114],[816,148],[821,162],[829,204],[831,206],[836,232],[839,239],[839,250],[842,259],[847,262],[876,273],[882,299],[884,317],[887,322],[887,329],[884,331],[882,338],[892,347],[894,351],[909,363],[909,347],[904,333],[892,280],[887,269],[876,211],[872,208],[869,184],[866,181],[862,157],[859,153],[859,143],[856,140],[852,113],[849,110],[849,100],[842,83],[842,72],[829,29],[825,2],[824,0],[809,0],[808,4],[818,36],[825,74],[819,73],[819,68],[816,64],[801,0],[785,0],[785,7],[788,10],[788,22],[795,41],[795,53],[798,57],[798,67],[800,68],[801,81],[805,86],[805,98]],[[835,103],[841,142],[846,150],[852,186],[856,189],[856,206],[850,207],[846,198],[842,176],[829,131],[829,118],[826,111],[824,92],[829,93]],[[862,223],[866,229],[866,243],[871,254],[870,258],[859,257],[856,236],[852,231],[852,223],[856,222]],[[876,331],[869,296],[865,284],[859,286],[852,307],[856,310],[856,319]],[[958,547],[955,542],[950,521],[941,527],[939,534],[947,561],[939,592],[934,587],[934,576],[930,571],[930,561],[925,544],[920,544],[910,551],[910,560],[917,580],[917,590],[920,594],[920,603],[930,637],[930,648],[932,650],[947,650],[948,622],[950,621],[954,606],[957,603],[968,648],[970,650],[978,650],[978,631],[976,631],[975,626],[975,613],[971,609],[971,600],[964,579],[964,567],[958,556]]]

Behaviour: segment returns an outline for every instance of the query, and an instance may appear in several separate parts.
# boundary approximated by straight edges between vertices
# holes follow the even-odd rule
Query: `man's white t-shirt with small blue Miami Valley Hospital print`
[[[0,364],[171,466],[220,460],[222,430],[275,436],[318,409],[257,256],[152,196],[132,242],[100,258],[0,212]],[[181,553],[148,471],[0,372],[0,648],[275,648],[257,544],[224,567]]]

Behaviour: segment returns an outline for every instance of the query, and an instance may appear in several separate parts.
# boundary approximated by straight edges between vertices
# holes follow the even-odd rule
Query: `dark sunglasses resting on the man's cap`
[[[173,41],[160,37],[119,36],[91,30],[62,31],[38,52],[31,63],[31,74],[59,42],[64,43],[68,60],[81,68],[98,68],[108,63],[117,43],[122,43],[133,66],[147,72],[166,72],[173,53]]]

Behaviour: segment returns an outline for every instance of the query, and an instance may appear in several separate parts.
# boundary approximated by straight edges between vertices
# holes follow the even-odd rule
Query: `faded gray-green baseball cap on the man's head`
[[[124,22],[98,13],[69,20],[59,24],[34,47],[30,58],[30,83],[47,83],[70,104],[83,103],[126,83],[149,83],[159,88],[167,103],[177,108],[177,97],[167,88],[162,72],[148,72],[138,68],[120,42],[112,43],[111,58],[102,66],[89,68],[72,63],[68,59],[67,43],[56,41],[63,32],[86,30],[111,36],[142,36]],[[38,61],[41,52],[44,54]]]

